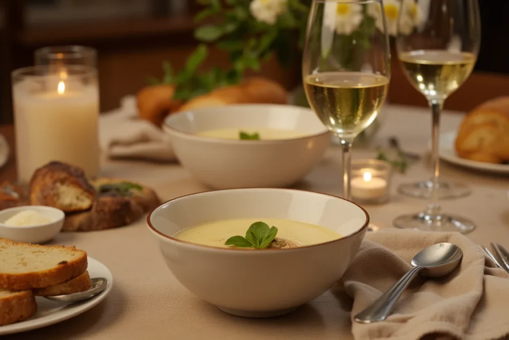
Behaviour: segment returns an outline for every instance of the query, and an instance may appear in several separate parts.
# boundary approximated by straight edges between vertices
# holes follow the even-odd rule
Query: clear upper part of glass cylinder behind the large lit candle
[[[97,51],[86,46],[48,46],[34,53],[36,66],[62,68],[68,65],[81,65],[97,68]]]

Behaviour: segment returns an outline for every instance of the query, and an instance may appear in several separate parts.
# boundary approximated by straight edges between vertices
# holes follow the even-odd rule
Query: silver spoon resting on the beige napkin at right
[[[385,320],[417,273],[428,277],[445,276],[458,267],[462,255],[461,249],[450,243],[437,243],[421,250],[412,259],[413,268],[354,320],[363,324]]]

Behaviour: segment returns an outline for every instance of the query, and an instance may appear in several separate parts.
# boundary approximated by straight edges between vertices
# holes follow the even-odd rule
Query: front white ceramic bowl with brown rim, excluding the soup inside
[[[292,249],[214,248],[177,240],[183,228],[236,218],[279,218],[342,234],[335,241]],[[173,275],[221,310],[271,317],[320,296],[351,264],[369,224],[359,205],[335,196],[291,189],[232,189],[165,202],[147,218]]]

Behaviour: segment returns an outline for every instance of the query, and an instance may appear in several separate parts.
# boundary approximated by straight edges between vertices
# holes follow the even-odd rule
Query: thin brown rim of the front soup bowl
[[[235,251],[235,252],[238,252],[238,253],[253,253],[253,250],[252,249],[237,249],[237,248],[219,248],[219,247],[213,247],[213,246],[207,246],[207,245],[202,245],[202,244],[197,244],[197,243],[192,243],[192,242],[188,242],[188,241],[182,241],[182,240],[179,240],[179,239],[176,239],[174,237],[171,237],[171,236],[167,236],[165,234],[163,234],[162,232],[160,232],[159,230],[157,230],[153,225],[152,225],[152,222],[150,221],[150,218],[152,216],[152,214],[161,206],[165,205],[166,203],[168,202],[172,202],[172,201],[175,201],[175,200],[178,200],[178,199],[181,199],[181,198],[184,198],[184,197],[187,197],[187,196],[192,196],[192,195],[199,195],[199,194],[204,194],[204,193],[211,193],[211,192],[217,192],[217,191],[237,191],[237,190],[277,190],[277,191],[298,191],[298,192],[304,192],[304,193],[312,193],[312,194],[318,194],[318,195],[322,195],[322,196],[329,196],[329,197],[333,197],[333,198],[338,198],[338,199],[342,199],[344,201],[347,201],[347,202],[350,202],[356,206],[358,206],[360,208],[360,210],[364,213],[365,217],[366,217],[366,220],[364,222],[364,225],[362,225],[362,227],[360,227],[359,229],[355,230],[354,232],[352,233],[349,233],[348,235],[345,235],[343,236],[342,238],[339,238],[339,239],[336,239],[336,240],[332,240],[332,241],[327,241],[327,242],[323,242],[323,243],[317,243],[317,244],[310,244],[310,245],[307,245],[307,246],[302,246],[302,247],[295,247],[295,248],[289,248],[289,249],[273,249],[273,248],[264,248],[264,249],[258,249],[255,253],[267,253],[267,252],[279,252],[279,251],[299,251],[299,250],[302,250],[302,249],[307,249],[307,248],[312,248],[312,247],[317,247],[317,246],[322,246],[322,245],[326,245],[326,244],[331,244],[331,243],[334,243],[334,242],[338,242],[338,241],[341,241],[341,240],[344,240],[344,239],[347,239],[347,238],[351,238],[353,237],[354,235],[362,232],[364,229],[367,229],[367,227],[370,225],[370,215],[367,213],[367,211],[360,205],[360,204],[357,204],[351,200],[348,200],[346,198],[343,198],[343,197],[338,197],[338,196],[334,196],[334,195],[330,195],[330,194],[324,194],[324,193],[319,193],[319,192],[316,192],[316,191],[308,191],[308,190],[299,190],[299,189],[280,189],[280,188],[234,188],[234,189],[218,189],[218,190],[209,190],[209,191],[201,191],[201,192],[196,192],[196,193],[192,193],[192,194],[187,194],[187,195],[183,195],[183,196],[179,196],[179,197],[175,197],[175,198],[172,198],[170,200],[167,200],[161,204],[159,204],[157,207],[155,207],[148,215],[147,215],[147,225],[149,227],[149,229],[151,229],[151,231],[153,233],[156,234],[156,236],[158,237],[162,237],[163,239],[167,239],[169,241],[172,241],[172,242],[176,242],[176,243],[182,243],[184,245],[188,245],[188,246],[194,246],[194,247],[197,247],[197,248],[203,248],[203,249],[207,249],[207,250],[213,250],[213,251]]]

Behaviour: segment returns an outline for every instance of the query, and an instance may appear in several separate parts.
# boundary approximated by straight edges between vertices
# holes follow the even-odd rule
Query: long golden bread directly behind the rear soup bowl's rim
[[[280,84],[262,77],[250,77],[238,85],[225,86],[193,98],[179,111],[244,103],[288,103],[288,93]]]

